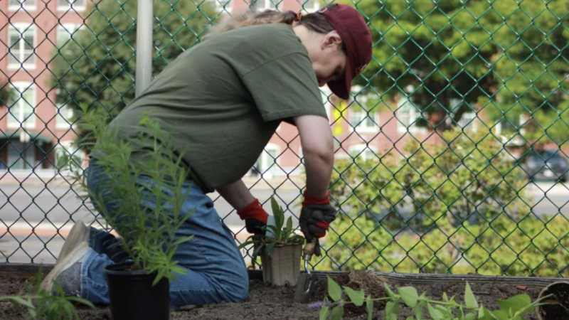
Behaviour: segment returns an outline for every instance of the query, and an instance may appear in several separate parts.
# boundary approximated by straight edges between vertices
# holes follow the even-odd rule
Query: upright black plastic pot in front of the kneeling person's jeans
[[[105,267],[109,284],[113,320],[168,320],[169,281],[162,278],[155,286],[156,273],[129,270],[132,262]]]

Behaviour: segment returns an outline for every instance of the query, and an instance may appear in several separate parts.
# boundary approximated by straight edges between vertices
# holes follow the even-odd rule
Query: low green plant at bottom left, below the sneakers
[[[80,319],[77,310],[73,302],[78,304],[84,304],[92,309],[95,306],[80,297],[65,297],[63,289],[60,285],[55,282],[55,288],[59,292],[58,295],[52,295],[49,292],[45,292],[40,289],[41,284],[41,267],[33,279],[32,284],[28,284],[26,288],[26,294],[20,296],[4,296],[0,297],[1,301],[9,301],[14,305],[14,308],[18,312],[22,312],[24,307],[28,311],[27,319],[47,319],[47,320],[59,320],[59,319]],[[4,311],[0,309],[0,314],[4,316],[4,319],[8,319]]]

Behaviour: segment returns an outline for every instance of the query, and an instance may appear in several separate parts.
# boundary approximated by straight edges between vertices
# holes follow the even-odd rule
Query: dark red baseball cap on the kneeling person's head
[[[361,14],[351,6],[337,4],[326,6],[317,12],[324,15],[346,46],[346,74],[343,79],[328,82],[328,87],[334,95],[348,100],[351,81],[371,61],[371,33]]]

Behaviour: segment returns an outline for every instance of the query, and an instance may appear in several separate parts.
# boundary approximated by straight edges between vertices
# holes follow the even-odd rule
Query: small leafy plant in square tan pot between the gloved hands
[[[285,224],[285,213],[274,198],[271,198],[272,217],[263,229],[265,235],[251,235],[239,248],[254,244],[252,263],[255,265],[260,255],[262,279],[267,285],[295,286],[300,274],[302,255],[302,235],[293,233],[292,217]],[[274,224],[272,223],[274,218]]]

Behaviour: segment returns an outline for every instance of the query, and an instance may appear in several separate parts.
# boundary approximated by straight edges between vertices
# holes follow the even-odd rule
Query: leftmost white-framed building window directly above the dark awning
[[[9,128],[35,128],[36,116],[33,108],[36,105],[36,88],[31,82],[14,82],[12,84],[15,100],[9,102]]]

